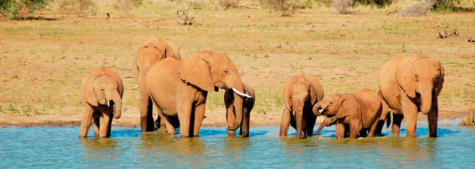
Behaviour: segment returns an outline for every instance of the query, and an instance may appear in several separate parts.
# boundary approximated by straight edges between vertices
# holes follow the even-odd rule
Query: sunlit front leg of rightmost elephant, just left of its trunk
[[[403,97],[401,102],[402,112],[404,113],[404,118],[406,118],[406,136],[410,138],[416,137],[418,108],[416,104],[414,104],[415,100],[413,98]]]

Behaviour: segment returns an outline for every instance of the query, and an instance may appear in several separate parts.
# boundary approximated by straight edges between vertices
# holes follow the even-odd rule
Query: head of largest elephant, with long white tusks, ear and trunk
[[[206,91],[218,91],[218,88],[233,90],[236,122],[228,130],[236,130],[242,123],[244,87],[238,69],[224,53],[199,51],[189,54],[178,65],[178,74],[185,83],[193,84]]]

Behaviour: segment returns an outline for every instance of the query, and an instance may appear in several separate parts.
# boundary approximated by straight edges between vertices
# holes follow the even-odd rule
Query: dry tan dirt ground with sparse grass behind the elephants
[[[139,127],[139,91],[132,71],[140,42],[164,37],[182,57],[203,49],[228,54],[242,80],[256,90],[251,126],[278,125],[285,80],[306,73],[325,95],[377,89],[377,71],[399,54],[439,59],[445,83],[439,120],[465,117],[475,102],[474,13],[386,16],[382,12],[336,15],[304,9],[281,17],[265,9],[196,9],[196,24],[175,23],[165,8],[144,8],[131,18],[80,18],[0,22],[0,126],[79,126],[81,80],[104,65],[125,86],[122,117],[113,126]],[[232,19],[230,19],[232,18]],[[390,29],[368,30],[384,25]],[[460,36],[435,39],[441,29]],[[202,126],[226,126],[223,91],[210,92]],[[157,115],[155,114],[156,118]],[[427,121],[421,113],[419,121]],[[317,123],[323,118],[319,117]]]

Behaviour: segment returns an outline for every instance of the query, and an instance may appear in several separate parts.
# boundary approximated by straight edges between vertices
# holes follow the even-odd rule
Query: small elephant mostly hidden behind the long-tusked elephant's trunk
[[[239,129],[239,135],[242,137],[249,137],[249,117],[251,114],[251,110],[254,107],[254,102],[256,101],[256,94],[254,93],[254,89],[247,83],[242,83],[244,87],[245,94],[251,96],[251,98],[244,97],[242,103],[242,124]],[[226,121],[228,122],[229,127],[234,127],[234,123],[236,122],[236,111],[234,105],[234,91],[228,90],[224,93],[224,104],[226,106]],[[236,131],[228,130],[228,136],[235,136]]]

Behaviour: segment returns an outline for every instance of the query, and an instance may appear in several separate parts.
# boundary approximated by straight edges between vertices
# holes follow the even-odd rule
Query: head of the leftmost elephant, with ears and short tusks
[[[93,76],[83,83],[81,88],[83,100],[92,106],[113,106],[112,113],[119,119],[122,113],[122,94],[124,92],[122,80],[115,72],[101,67],[95,70]],[[113,74],[112,74],[112,73]],[[111,102],[112,101],[112,102]]]

